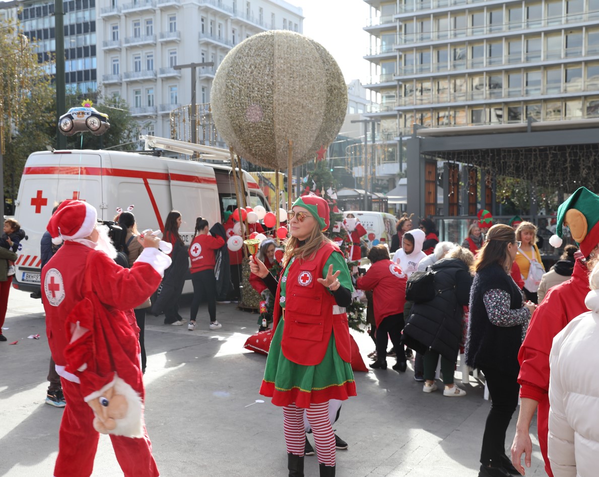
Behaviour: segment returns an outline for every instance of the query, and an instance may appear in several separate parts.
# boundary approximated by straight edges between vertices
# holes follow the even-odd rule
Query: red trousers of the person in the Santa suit
[[[55,477],[89,477],[98,447],[99,433],[93,428],[93,411],[81,396],[79,385],[62,378],[66,404],[60,422]],[[125,477],[158,477],[152,456],[152,443],[144,427],[144,437],[110,436],[114,454]]]

